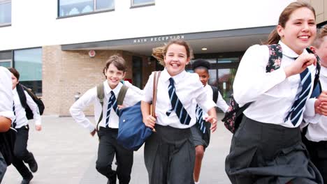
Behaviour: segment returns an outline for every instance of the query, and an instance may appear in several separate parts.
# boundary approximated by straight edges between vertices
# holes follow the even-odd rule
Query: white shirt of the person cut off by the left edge
[[[11,82],[11,73],[7,68],[0,66],[0,116],[15,121],[13,114],[13,83]]]

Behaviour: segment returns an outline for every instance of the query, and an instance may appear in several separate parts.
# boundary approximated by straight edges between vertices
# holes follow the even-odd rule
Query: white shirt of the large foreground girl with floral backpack
[[[273,72],[266,72],[269,59],[269,49],[266,45],[253,45],[247,49],[235,76],[233,95],[240,106],[252,102],[243,112],[248,118],[262,123],[294,128],[300,125],[303,115],[300,116],[295,126],[290,120],[284,122],[284,119],[296,100],[296,95],[302,89],[300,74],[286,78],[283,68],[294,62],[294,58],[297,58],[298,54],[282,41],[279,41],[279,45],[282,46],[282,63],[281,67]],[[303,52],[307,53],[305,49]],[[316,67],[311,65],[307,68],[311,72],[313,84]],[[313,85],[310,95],[312,88]],[[310,109],[314,109],[314,106],[307,106],[304,111]]]

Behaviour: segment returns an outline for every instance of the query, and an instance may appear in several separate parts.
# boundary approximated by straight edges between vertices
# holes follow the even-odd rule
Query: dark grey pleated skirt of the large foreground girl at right
[[[226,157],[231,183],[323,183],[301,141],[300,128],[260,123],[246,116]]]

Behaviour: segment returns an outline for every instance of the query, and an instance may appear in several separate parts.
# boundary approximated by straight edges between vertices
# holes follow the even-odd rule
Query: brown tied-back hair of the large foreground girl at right
[[[298,8],[308,8],[312,11],[314,14],[314,19],[316,18],[316,11],[314,8],[310,5],[310,3],[307,3],[305,1],[296,1],[293,3],[290,3],[289,6],[286,6],[282,13],[279,15],[278,25],[285,27],[286,22],[289,20],[289,17],[293,13],[293,11],[297,10]],[[271,31],[271,33],[268,36],[268,40],[264,42],[263,44],[271,45],[276,44],[280,40],[280,36],[277,33],[277,26],[276,28]]]

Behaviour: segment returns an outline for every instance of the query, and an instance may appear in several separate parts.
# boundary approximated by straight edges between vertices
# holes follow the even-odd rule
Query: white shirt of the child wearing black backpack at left
[[[41,116],[38,110],[38,105],[31,96],[24,91],[26,95],[26,103],[33,112],[33,119],[35,125],[41,125]],[[13,100],[15,102],[15,114],[16,114],[16,127],[15,128],[22,128],[22,126],[27,125],[29,120],[26,117],[26,112],[22,104],[20,103],[20,96],[17,93],[17,88],[13,89]]]

